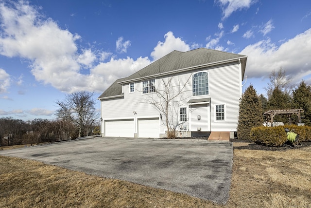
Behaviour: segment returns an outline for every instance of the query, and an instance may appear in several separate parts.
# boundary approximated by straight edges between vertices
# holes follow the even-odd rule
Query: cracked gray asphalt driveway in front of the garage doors
[[[233,151],[227,141],[96,137],[0,154],[186,193],[219,204],[229,198]]]

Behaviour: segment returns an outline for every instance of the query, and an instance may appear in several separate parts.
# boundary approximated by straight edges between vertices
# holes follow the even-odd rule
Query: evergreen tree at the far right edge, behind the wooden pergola
[[[311,125],[311,86],[301,81],[299,86],[293,90],[293,108],[302,108],[305,118],[301,119],[306,125]],[[299,121],[298,121],[299,122]]]

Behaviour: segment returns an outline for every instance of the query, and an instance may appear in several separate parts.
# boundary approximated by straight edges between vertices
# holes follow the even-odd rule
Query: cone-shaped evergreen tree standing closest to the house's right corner
[[[260,97],[257,95],[253,85],[250,85],[240,101],[238,138],[248,139],[251,128],[261,126],[262,106]]]

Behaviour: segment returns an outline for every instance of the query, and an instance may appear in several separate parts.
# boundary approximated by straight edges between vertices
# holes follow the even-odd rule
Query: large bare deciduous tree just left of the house
[[[78,91],[66,95],[64,101],[56,101],[59,105],[55,113],[56,117],[61,120],[71,121],[79,128],[79,137],[88,134],[89,129],[96,123],[99,114],[96,112],[93,93],[87,91]]]

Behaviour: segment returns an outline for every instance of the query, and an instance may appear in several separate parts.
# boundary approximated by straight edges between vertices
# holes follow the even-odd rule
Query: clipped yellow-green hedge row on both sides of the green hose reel
[[[294,130],[299,135],[299,141],[311,141],[311,127],[309,126],[295,126],[286,125],[278,127],[254,127],[251,129],[250,138],[252,141],[266,145],[281,147],[287,141],[285,128],[290,131]]]

